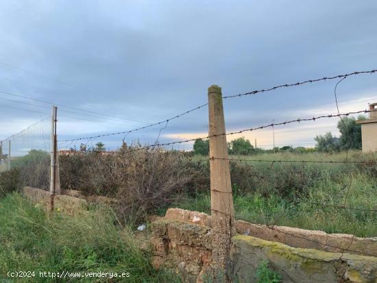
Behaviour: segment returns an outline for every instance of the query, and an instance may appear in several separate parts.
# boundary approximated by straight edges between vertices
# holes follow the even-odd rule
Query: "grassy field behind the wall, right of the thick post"
[[[348,153],[348,160],[369,160],[376,154]],[[200,157],[197,157],[200,158]],[[249,157],[260,160],[339,160],[346,153],[269,153]],[[377,158],[375,158],[376,160]],[[236,219],[269,225],[286,225],[328,233],[377,236],[377,212],[321,206],[377,209],[376,165],[238,163],[232,175]],[[258,177],[262,176],[262,177]],[[240,187],[242,186],[242,188]],[[209,188],[172,206],[210,213]]]

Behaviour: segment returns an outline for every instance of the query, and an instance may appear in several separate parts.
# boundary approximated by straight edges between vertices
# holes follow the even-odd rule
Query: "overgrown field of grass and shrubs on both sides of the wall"
[[[85,217],[59,212],[48,216],[13,191],[28,182],[25,176],[19,180],[22,168],[1,173],[0,274],[8,270],[109,270],[130,271],[131,278],[124,282],[180,282],[177,275],[151,267],[151,252],[140,248],[135,227],[147,223],[148,215],[164,214],[169,207],[209,213],[208,160],[179,152],[137,152],[62,156],[63,188],[119,200],[120,207],[93,206]],[[376,157],[360,151],[231,156],[263,160],[231,162],[236,219],[377,236],[377,213],[370,211],[377,208],[377,167],[368,163]],[[325,160],[365,163],[314,162]]]

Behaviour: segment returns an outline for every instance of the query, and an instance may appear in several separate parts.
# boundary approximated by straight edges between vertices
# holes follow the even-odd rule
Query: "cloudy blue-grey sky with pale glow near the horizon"
[[[376,69],[376,14],[375,0],[0,0],[0,138],[49,116],[51,103],[63,140],[163,121],[206,103],[211,84],[234,95]],[[336,83],[227,99],[227,131],[336,114]],[[377,74],[348,77],[337,94],[341,112],[364,110],[377,102]],[[276,127],[276,145],[311,146],[317,134],[337,134],[336,125]],[[154,143],[163,126],[60,148]],[[207,134],[202,108],[169,122],[159,141]],[[272,146],[271,129],[242,136]]]

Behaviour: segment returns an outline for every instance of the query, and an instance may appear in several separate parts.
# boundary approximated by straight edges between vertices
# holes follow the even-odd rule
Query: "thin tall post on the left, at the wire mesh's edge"
[[[50,195],[51,209],[53,209],[53,196],[60,194],[60,177],[58,164],[58,139],[56,136],[56,114],[58,108],[52,107],[51,115],[51,162],[50,162]]]

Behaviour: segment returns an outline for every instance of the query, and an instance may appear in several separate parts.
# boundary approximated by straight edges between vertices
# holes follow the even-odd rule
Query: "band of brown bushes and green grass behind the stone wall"
[[[374,197],[377,166],[367,162],[376,160],[376,154],[284,151],[232,158],[265,161],[230,163],[237,219],[357,236],[377,235],[377,214],[367,211],[377,207]],[[349,161],[365,160],[366,163],[342,163],[346,158]],[[38,166],[30,165],[33,160]],[[29,173],[27,168],[49,168],[46,153],[39,151],[31,151],[16,162],[12,164],[14,167],[17,164],[18,169],[0,177],[0,193],[3,195],[23,184],[38,187],[40,176]],[[96,150],[68,153],[60,156],[60,180],[62,188],[117,199],[117,215],[122,223],[139,223],[148,214],[162,214],[173,206],[210,212],[210,171],[205,156],[191,157],[180,151],[129,148],[126,145],[114,154]]]

